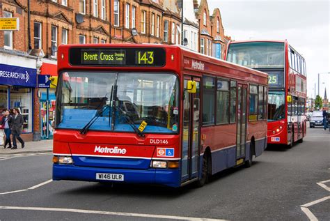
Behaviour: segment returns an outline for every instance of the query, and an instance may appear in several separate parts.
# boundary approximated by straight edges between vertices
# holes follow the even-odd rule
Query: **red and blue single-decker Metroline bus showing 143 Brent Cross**
[[[178,46],[61,45],[58,76],[54,180],[201,186],[267,145],[257,70]]]

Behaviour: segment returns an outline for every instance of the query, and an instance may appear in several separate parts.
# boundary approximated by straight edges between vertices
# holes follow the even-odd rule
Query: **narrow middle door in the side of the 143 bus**
[[[238,84],[237,98],[236,159],[240,159],[245,156],[247,85]]]

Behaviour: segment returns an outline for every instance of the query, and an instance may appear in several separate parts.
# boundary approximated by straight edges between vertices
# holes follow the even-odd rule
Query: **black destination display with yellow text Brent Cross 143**
[[[162,48],[84,48],[73,47],[69,54],[72,66],[150,66],[166,63]]]

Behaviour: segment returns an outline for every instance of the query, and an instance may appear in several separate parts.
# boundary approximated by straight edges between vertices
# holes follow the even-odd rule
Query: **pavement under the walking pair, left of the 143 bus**
[[[3,148],[0,146],[0,155],[8,154],[22,154],[22,153],[52,153],[53,140],[42,139],[38,142],[25,142],[25,147],[21,148],[21,144],[18,142],[17,149]]]

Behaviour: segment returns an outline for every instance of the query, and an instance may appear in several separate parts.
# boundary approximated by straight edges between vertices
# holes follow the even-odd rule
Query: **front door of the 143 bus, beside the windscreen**
[[[188,93],[187,82],[196,82],[196,93]],[[184,76],[181,181],[198,177],[201,114],[201,79]]]

